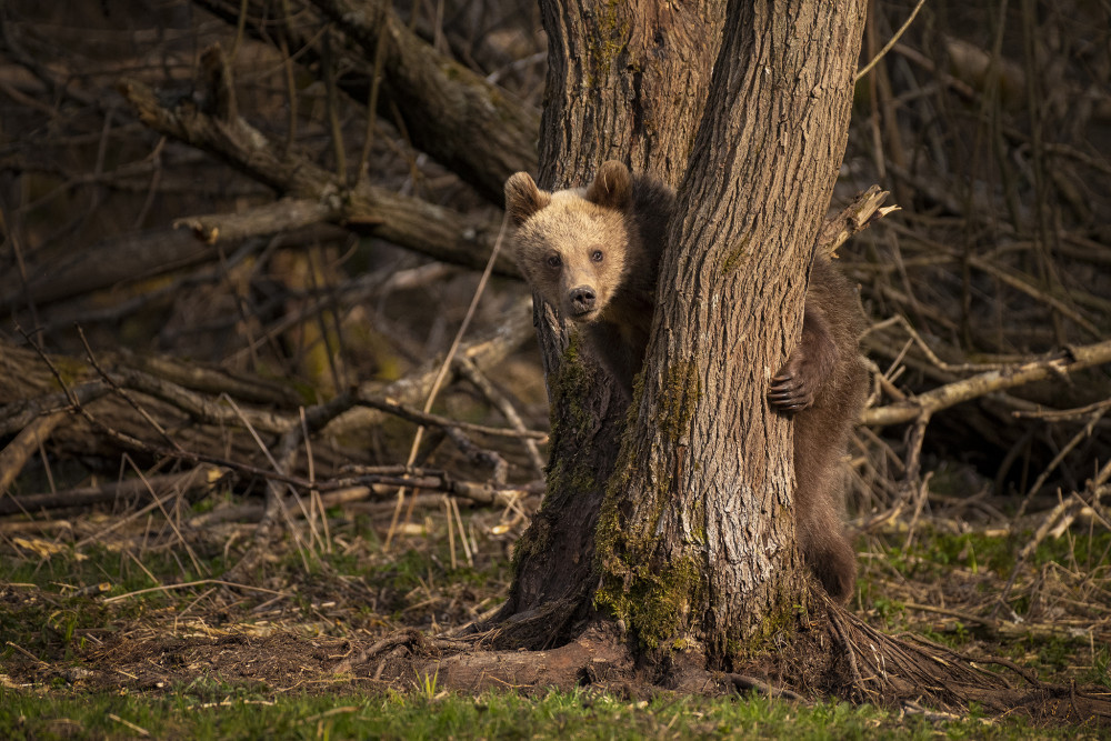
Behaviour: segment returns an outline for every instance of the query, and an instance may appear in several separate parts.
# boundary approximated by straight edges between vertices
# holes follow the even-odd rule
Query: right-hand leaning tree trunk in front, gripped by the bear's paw
[[[649,647],[728,658],[803,603],[791,430],[764,394],[798,340],[863,21],[857,1],[730,3],[603,508],[602,599]]]

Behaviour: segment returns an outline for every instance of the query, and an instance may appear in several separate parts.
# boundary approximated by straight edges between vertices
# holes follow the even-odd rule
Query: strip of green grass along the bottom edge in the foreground
[[[113,718],[114,717],[114,718]],[[167,694],[38,694],[0,689],[0,738],[188,739],[1051,739],[1073,729],[1031,729],[1021,719],[931,721],[922,715],[812,707],[758,697],[662,697],[630,702],[588,690],[538,698],[477,698],[424,687],[412,693],[267,694],[218,684]],[[1095,738],[1091,734],[1089,738]]]

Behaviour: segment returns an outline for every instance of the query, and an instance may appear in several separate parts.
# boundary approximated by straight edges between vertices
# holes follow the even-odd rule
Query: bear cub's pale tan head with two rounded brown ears
[[[517,263],[564,319],[599,319],[624,282],[639,237],[632,201],[629,169],[612,160],[587,188],[549,192],[527,172],[506,181],[506,210],[517,224]]]

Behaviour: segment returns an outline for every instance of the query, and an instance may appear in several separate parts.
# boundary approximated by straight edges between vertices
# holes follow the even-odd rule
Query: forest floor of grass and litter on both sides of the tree
[[[648,683],[448,691],[436,671],[419,668],[450,649],[432,639],[504,598],[512,543],[527,523],[520,511],[449,518],[446,507],[418,507],[387,547],[392,502],[333,508],[327,531],[322,521],[314,533],[306,527],[252,579],[223,582],[218,574],[253,537],[252,523],[236,520],[246,505],[213,492],[172,519],[120,511],[6,522],[0,734],[822,738],[831,722],[838,737],[1107,732],[975,709],[957,718],[923,707],[739,699],[717,688],[690,697]],[[944,510],[934,503],[913,530],[901,519],[867,523],[850,608],[884,632],[943,644],[1020,684],[1111,693],[1108,530],[1073,521],[1040,538],[1037,528],[1005,523],[973,531]]]

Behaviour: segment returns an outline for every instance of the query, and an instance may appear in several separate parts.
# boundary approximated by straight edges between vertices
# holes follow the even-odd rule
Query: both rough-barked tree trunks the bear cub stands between
[[[725,20],[720,3],[542,3],[541,184],[582,184],[613,157],[671,184],[685,174],[620,462],[620,394],[568,362],[575,346],[538,301],[549,493],[521,541],[503,644],[558,644],[603,604],[645,648],[724,659],[804,603],[791,427],[764,394],[801,328],[864,20],[858,0],[818,6],[732,1]],[[688,44],[722,27],[711,67]]]

